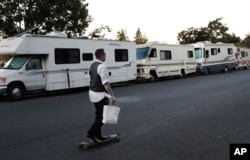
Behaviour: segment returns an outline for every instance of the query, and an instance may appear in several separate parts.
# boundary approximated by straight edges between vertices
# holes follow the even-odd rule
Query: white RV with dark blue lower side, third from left
[[[193,44],[197,62],[197,72],[224,71],[236,68],[236,47],[231,43],[211,43],[208,41]]]

